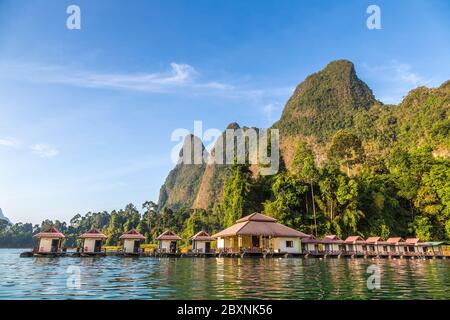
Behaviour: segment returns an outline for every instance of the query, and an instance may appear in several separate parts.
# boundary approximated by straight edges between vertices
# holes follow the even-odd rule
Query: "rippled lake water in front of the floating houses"
[[[450,260],[19,258],[22,251],[0,249],[0,299],[450,299]],[[367,288],[371,265],[379,289]]]

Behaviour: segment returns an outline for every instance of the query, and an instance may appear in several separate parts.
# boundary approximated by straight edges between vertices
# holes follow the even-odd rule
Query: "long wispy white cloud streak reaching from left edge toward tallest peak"
[[[170,68],[163,72],[105,73],[74,67],[8,61],[0,63],[0,78],[83,88],[148,93],[221,95],[226,98],[250,100],[286,97],[294,87],[263,89],[250,88],[244,85],[237,87],[218,80],[205,80],[193,66],[175,62],[172,62]]]

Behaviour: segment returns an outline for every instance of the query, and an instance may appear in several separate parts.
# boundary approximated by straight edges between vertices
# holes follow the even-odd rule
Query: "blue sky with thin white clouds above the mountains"
[[[0,0],[0,207],[39,223],[157,200],[173,130],[270,126],[334,59],[397,103],[450,78],[449,21],[447,0]]]

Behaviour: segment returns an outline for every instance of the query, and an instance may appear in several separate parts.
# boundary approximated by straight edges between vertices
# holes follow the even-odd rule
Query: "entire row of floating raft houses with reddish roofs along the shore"
[[[56,228],[47,228],[36,234],[39,246],[33,251],[24,252],[22,257],[32,256],[89,256],[89,255],[122,255],[122,256],[153,256],[153,257],[348,257],[348,258],[438,258],[450,257],[450,243],[424,242],[418,238],[403,239],[391,237],[382,240],[371,236],[364,240],[360,235],[352,235],[345,240],[336,235],[327,235],[316,239],[312,235],[297,231],[277,222],[276,219],[261,213],[253,213],[236,221],[236,224],[210,236],[206,231],[200,231],[189,238],[192,249],[182,254],[178,248],[180,236],[171,230],[166,230],[156,239],[158,249],[148,253],[141,250],[141,242],[145,237],[131,229],[120,236],[121,249],[117,252],[103,250],[106,235],[92,228],[82,234],[83,247],[77,253],[67,253],[62,248],[64,234]],[[216,241],[217,249],[212,249]]]

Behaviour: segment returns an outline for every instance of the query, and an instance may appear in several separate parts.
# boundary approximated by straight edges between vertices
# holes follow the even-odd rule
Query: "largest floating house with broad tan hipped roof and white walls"
[[[277,223],[261,213],[253,213],[236,221],[231,227],[212,236],[217,248],[225,253],[262,254],[301,253],[301,239],[310,236]]]

